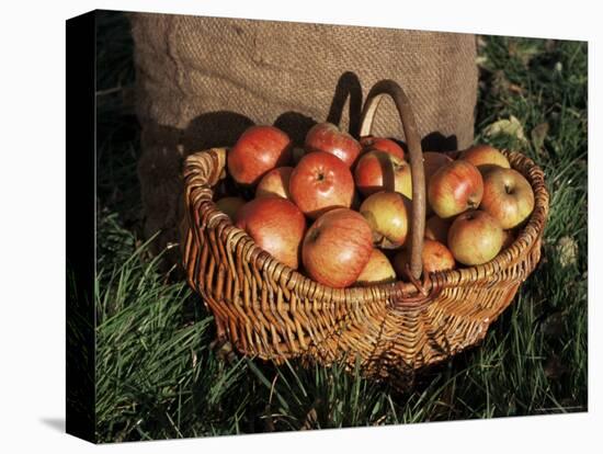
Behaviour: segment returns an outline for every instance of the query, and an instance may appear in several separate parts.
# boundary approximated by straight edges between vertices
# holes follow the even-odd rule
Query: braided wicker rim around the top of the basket
[[[428,273],[423,276],[422,283],[412,283],[401,280],[397,280],[394,283],[388,284],[374,284],[366,286],[350,286],[345,288],[329,287],[320,284],[317,281],[302,274],[299,271],[294,270],[284,263],[277,261],[269,252],[261,249],[253,239],[242,229],[236,227],[232,220],[226,213],[220,212],[216,203],[213,201],[213,186],[218,181],[220,173],[226,171],[226,164],[224,159],[220,162],[218,148],[211,148],[190,155],[184,163],[184,183],[186,186],[186,204],[187,212],[193,217],[190,218],[191,228],[194,226],[194,230],[198,228],[215,228],[216,237],[223,237],[225,242],[234,243],[232,239],[237,238],[239,241],[244,240],[242,245],[243,256],[247,260],[255,258],[258,262],[258,269],[262,272],[268,272],[274,282],[286,283],[289,290],[295,290],[299,297],[307,297],[315,299],[317,295],[322,297],[329,297],[330,300],[386,300],[394,298],[401,302],[407,302],[410,308],[424,307],[434,299],[435,294],[446,287],[454,287],[460,285],[470,285],[487,277],[491,277],[502,270],[513,265],[522,254],[532,250],[536,245],[538,238],[542,236],[546,219],[548,216],[548,202],[549,194],[545,184],[544,171],[528,157],[520,151],[511,151],[508,149],[501,149],[500,151],[509,159],[511,168],[522,173],[530,182],[532,190],[534,191],[534,209],[530,215],[527,222],[524,222],[524,226],[521,228],[515,240],[503,251],[501,251],[490,262],[466,266],[462,269],[439,271]],[[226,148],[221,148],[224,152]],[[458,154],[458,151],[443,151],[444,154]],[[213,155],[213,156],[212,156]],[[214,182],[208,180],[209,175],[202,175],[198,169],[198,160],[211,161],[211,166],[214,166],[212,171],[214,175]],[[216,169],[216,166],[223,166]],[[205,181],[200,181],[200,179]],[[200,203],[192,201],[192,193],[195,191],[202,191],[200,194]],[[206,213],[204,218],[206,222],[198,223],[191,222],[195,219],[194,212],[198,211],[202,205]],[[238,242],[238,241],[237,241]],[[228,248],[232,248],[232,245],[228,245]]]

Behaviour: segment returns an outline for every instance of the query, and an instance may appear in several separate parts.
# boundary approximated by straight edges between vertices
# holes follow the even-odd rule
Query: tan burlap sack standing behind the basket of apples
[[[160,248],[177,240],[183,157],[231,145],[254,123],[298,143],[325,120],[355,133],[363,94],[380,79],[407,91],[424,149],[473,140],[473,35],[149,13],[130,21],[145,229],[161,230]],[[375,126],[403,137],[392,105]]]

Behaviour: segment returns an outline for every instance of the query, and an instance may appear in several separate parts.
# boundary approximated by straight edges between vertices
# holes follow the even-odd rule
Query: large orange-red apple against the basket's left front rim
[[[292,202],[261,197],[246,203],[237,214],[237,227],[276,260],[296,270],[306,232],[306,218]]]

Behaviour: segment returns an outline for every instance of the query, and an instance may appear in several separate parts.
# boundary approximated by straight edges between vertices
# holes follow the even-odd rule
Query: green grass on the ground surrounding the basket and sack
[[[476,130],[515,116],[551,194],[543,261],[483,343],[418,377],[412,391],[341,366],[276,367],[212,344],[212,315],[161,271],[140,235],[132,41],[121,14],[99,37],[96,434],[100,441],[584,411],[587,45],[482,37]]]

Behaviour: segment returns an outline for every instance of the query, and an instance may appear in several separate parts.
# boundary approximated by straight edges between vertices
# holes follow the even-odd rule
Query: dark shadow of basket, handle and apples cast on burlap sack
[[[357,137],[362,115],[363,93],[359,77],[351,71],[338,80],[326,121],[341,125]],[[348,106],[348,127],[342,123]],[[392,107],[394,109],[394,107]],[[308,130],[317,120],[295,111],[281,114],[273,123],[284,130],[297,146],[303,146]],[[147,124],[141,135],[145,150],[138,162],[143,206],[145,208],[145,236],[160,231],[151,246],[155,253],[170,243],[178,242],[178,225],[183,215],[182,168],[184,159],[196,151],[213,147],[232,146],[240,135],[255,123],[248,116],[231,111],[202,113],[185,129]],[[403,136],[400,123],[400,137]],[[406,144],[395,138],[406,149]],[[432,132],[421,140],[423,150],[447,151],[457,148],[455,135],[444,136]],[[169,263],[179,262],[179,248],[167,252]]]

